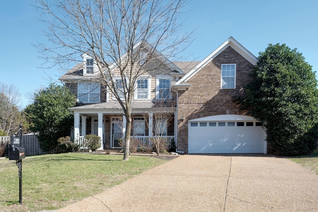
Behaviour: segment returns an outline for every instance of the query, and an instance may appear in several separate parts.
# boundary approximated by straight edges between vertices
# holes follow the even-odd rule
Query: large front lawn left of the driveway
[[[22,160],[22,205],[18,167],[0,160],[0,212],[54,210],[95,195],[166,162],[146,156],[65,153]]]

